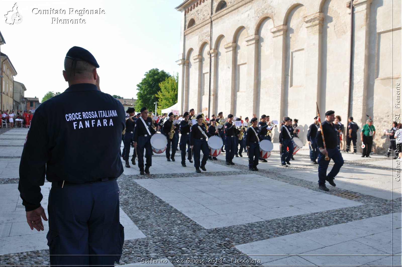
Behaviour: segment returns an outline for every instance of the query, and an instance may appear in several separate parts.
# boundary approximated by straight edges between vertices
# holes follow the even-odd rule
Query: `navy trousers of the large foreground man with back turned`
[[[51,265],[114,266],[119,262],[124,230],[119,224],[116,180],[52,187],[48,212]]]

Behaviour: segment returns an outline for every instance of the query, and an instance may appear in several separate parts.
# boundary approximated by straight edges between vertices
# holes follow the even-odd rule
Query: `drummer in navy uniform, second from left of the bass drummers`
[[[201,160],[201,169],[203,171],[207,171],[207,169],[205,168],[205,164],[207,164],[209,155],[209,148],[206,138],[211,137],[211,135],[208,134],[207,129],[205,128],[205,125],[204,123],[202,123],[202,121],[203,117],[200,114],[197,116],[197,124],[191,127],[191,133],[190,133],[190,145],[191,148],[193,149],[194,166],[196,173],[201,173],[201,170],[199,169],[201,150],[203,153],[203,157]]]

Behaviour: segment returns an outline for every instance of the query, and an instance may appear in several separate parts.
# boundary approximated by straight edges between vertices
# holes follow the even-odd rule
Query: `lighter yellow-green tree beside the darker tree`
[[[162,109],[173,106],[177,103],[178,94],[178,73],[166,78],[159,84],[160,91],[156,94],[158,97],[158,114],[161,114]]]

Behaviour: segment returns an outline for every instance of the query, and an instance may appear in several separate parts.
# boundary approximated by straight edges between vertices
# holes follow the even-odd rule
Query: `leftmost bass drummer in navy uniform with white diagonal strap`
[[[135,121],[134,128],[134,148],[137,151],[139,174],[150,174],[150,166],[152,166],[152,147],[151,136],[156,134],[156,130],[151,127],[152,119],[148,117],[148,109],[141,109],[141,117]],[[145,173],[144,173],[144,148],[145,148]]]

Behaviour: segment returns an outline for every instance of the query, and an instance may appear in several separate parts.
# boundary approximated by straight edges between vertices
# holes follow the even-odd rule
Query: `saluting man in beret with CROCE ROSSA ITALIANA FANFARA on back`
[[[47,220],[40,203],[45,175],[52,185],[51,265],[113,266],[121,257],[116,179],[123,173],[125,112],[119,101],[98,90],[96,68],[88,50],[74,46],[67,52],[63,76],[69,87],[36,109],[21,155],[18,190],[31,230],[43,231],[41,218]]]

